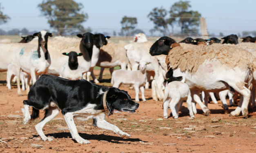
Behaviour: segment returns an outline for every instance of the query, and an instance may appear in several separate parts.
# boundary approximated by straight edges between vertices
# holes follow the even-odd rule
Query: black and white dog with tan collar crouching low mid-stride
[[[104,87],[86,80],[71,81],[53,75],[42,75],[31,87],[28,100],[23,101],[23,123],[39,117],[39,109],[45,110],[45,117],[36,125],[36,131],[42,140],[52,141],[42,131],[44,125],[57,116],[61,110],[69,127],[71,136],[80,144],[89,144],[81,138],[73,118],[88,120],[93,118],[93,126],[114,131],[122,138],[131,135],[121,131],[105,120],[105,115],[127,111],[134,113],[139,104],[132,101],[129,94],[116,87]],[[29,114],[29,106],[33,107]]]

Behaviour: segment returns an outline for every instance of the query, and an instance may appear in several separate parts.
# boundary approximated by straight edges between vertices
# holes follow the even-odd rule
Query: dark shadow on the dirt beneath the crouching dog
[[[46,136],[53,136],[54,138],[72,138],[72,136],[69,132],[48,133]],[[104,135],[104,134],[79,133],[79,136],[81,136],[83,139],[89,140],[89,141],[90,140],[98,140],[98,141],[104,140],[104,141],[111,142],[111,143],[116,143],[116,144],[127,144],[127,143],[123,143],[123,142],[119,142],[119,141],[129,141],[129,142],[142,141],[139,138],[123,139],[123,138],[120,138],[118,136],[108,136],[108,135]],[[33,137],[38,137],[38,135],[33,135]],[[76,142],[76,140],[73,140],[73,141]],[[147,141],[143,141],[143,142],[147,142]]]

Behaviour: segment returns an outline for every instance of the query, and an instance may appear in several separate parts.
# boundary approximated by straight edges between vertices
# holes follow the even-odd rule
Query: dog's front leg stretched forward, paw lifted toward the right
[[[105,120],[105,113],[99,114],[98,116],[93,117],[93,126],[99,127],[102,129],[110,130],[118,134],[121,138],[129,138],[131,135],[121,131],[116,125],[112,125]]]

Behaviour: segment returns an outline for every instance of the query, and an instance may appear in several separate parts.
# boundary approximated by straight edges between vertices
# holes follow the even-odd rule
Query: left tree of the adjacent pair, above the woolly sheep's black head
[[[160,9],[158,9],[157,7],[154,8],[149,13],[149,15],[147,15],[147,17],[149,17],[149,19],[153,21],[155,24],[154,29],[151,29],[151,34],[153,34],[154,31],[160,31],[164,35],[169,35],[170,32],[168,30],[168,24],[172,27],[172,32],[173,32],[175,19],[165,18],[166,15],[167,15],[167,11],[162,7]]]

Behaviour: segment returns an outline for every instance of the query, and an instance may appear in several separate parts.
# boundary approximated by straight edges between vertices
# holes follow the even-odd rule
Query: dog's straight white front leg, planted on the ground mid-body
[[[69,127],[69,131],[71,133],[72,138],[80,144],[89,144],[90,142],[88,140],[85,140],[79,136],[75,122],[73,120],[73,113],[68,112],[63,116],[67,122],[67,126]]]

